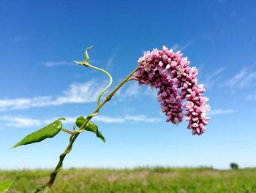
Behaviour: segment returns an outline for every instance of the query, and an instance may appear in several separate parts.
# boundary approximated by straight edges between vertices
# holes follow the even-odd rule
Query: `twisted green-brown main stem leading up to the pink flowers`
[[[118,91],[119,88],[121,88],[121,86],[123,86],[125,83],[127,83],[127,81],[129,81],[129,78],[139,69],[139,67],[137,67],[135,70],[133,70],[126,78],[124,78],[124,80],[118,84],[118,86],[116,86],[116,88],[113,89],[113,91],[110,92],[110,94],[108,94],[108,96],[106,96],[105,100],[97,106],[97,108],[94,110],[93,113],[91,113],[91,115],[86,117],[86,121],[83,122],[83,125],[80,126],[81,131],[83,131],[86,128],[86,125],[89,123],[89,121],[91,120],[92,117],[97,116],[97,114],[99,113],[99,110],[105,105],[106,102],[108,102],[113,95],[116,93],[116,91]],[[56,165],[55,170],[50,174],[50,180],[48,181],[48,183],[45,183],[43,186],[38,187],[34,193],[36,192],[40,192],[42,190],[47,189],[46,191],[48,191],[48,189],[50,189],[53,186],[53,183],[56,179],[57,174],[59,173],[59,171],[62,169],[62,165],[63,165],[63,161],[65,159],[65,156],[67,154],[69,154],[70,151],[72,151],[72,145],[75,142],[76,138],[78,137],[78,135],[80,134],[80,132],[77,132],[75,135],[72,135],[69,139],[69,145],[67,145],[67,148],[65,149],[64,153],[62,153],[59,156],[59,162]]]

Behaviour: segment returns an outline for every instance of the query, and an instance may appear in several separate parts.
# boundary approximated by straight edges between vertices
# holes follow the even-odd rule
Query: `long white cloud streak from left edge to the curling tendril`
[[[95,81],[72,83],[61,96],[36,96],[33,98],[0,99],[0,111],[46,107],[69,103],[95,102],[102,90]]]

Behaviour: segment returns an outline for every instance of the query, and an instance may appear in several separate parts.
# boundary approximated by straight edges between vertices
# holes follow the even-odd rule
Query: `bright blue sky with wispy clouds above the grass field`
[[[155,91],[131,81],[92,120],[106,143],[84,132],[64,167],[256,167],[255,8],[230,0],[1,1],[0,168],[56,165],[64,132],[8,149],[54,118],[72,129],[94,110],[108,77],[72,63],[90,45],[91,64],[108,69],[113,86],[143,51],[181,50],[199,69],[211,121],[192,136],[186,122],[165,122]]]

